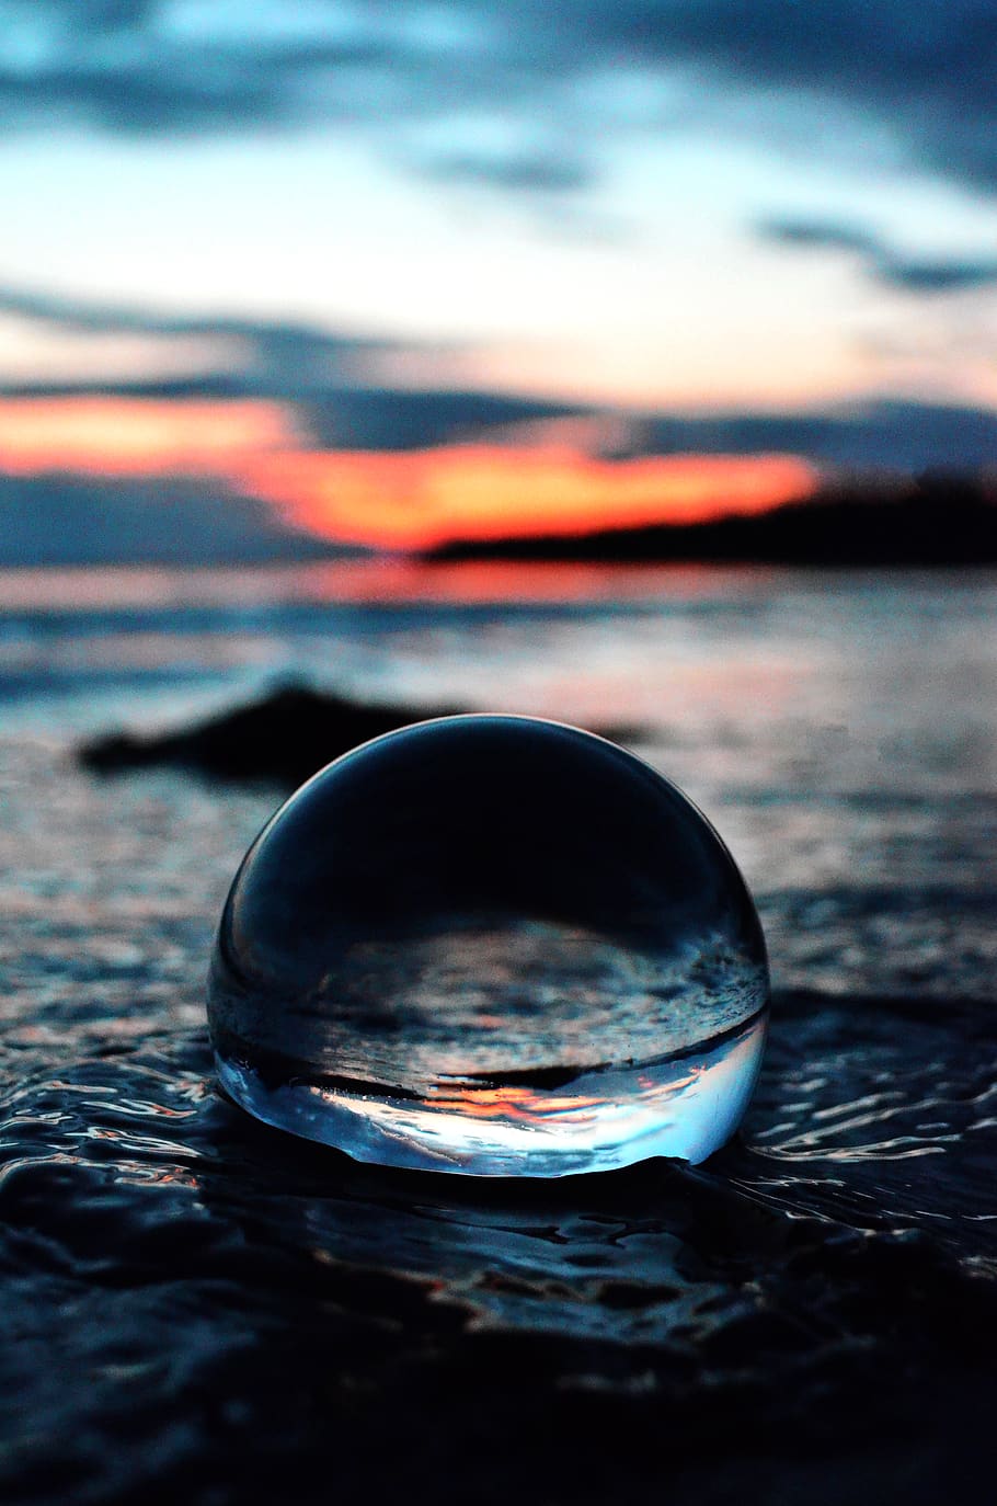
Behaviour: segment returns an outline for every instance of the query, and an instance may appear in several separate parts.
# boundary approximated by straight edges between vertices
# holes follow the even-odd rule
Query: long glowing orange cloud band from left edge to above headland
[[[764,512],[809,495],[792,455],[593,459],[577,444],[307,450],[265,401],[0,399],[0,471],[215,476],[294,526],[381,548]]]

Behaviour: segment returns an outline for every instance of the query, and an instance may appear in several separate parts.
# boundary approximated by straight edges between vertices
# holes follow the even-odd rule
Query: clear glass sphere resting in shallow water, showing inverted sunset
[[[563,1176],[702,1161],[765,1041],[726,846],[622,748],[530,717],[423,721],[321,770],[218,929],[218,1075],[361,1161]]]

